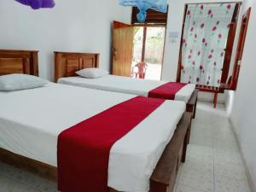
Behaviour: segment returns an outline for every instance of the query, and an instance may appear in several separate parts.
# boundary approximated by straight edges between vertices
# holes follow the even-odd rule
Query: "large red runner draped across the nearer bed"
[[[58,187],[61,192],[107,192],[110,149],[164,100],[137,96],[61,132]]]

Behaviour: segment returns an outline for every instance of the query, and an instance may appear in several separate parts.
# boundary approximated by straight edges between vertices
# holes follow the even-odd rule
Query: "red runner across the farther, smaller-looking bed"
[[[177,92],[181,90],[185,85],[187,84],[169,82],[155,88],[154,90],[150,90],[148,97],[174,100]]]

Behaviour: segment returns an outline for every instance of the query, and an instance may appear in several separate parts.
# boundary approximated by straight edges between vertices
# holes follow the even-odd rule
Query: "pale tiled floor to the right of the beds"
[[[245,168],[224,106],[200,102],[186,163],[173,192],[249,192]]]

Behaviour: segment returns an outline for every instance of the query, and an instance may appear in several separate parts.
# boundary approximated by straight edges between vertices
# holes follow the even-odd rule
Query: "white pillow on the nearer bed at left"
[[[49,81],[26,74],[9,74],[0,76],[0,91],[27,90],[43,87]]]

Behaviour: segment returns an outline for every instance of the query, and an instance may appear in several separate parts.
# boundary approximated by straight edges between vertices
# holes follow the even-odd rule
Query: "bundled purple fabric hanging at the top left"
[[[15,0],[21,4],[30,6],[32,9],[53,8],[55,6],[54,0]]]

